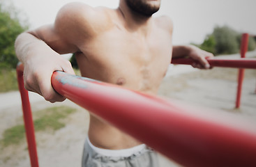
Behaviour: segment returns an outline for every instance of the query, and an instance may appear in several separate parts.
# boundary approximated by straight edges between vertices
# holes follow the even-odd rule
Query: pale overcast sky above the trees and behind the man
[[[61,6],[74,0],[0,0],[13,3],[20,17],[35,29],[54,22]],[[119,0],[75,0],[90,6],[117,8]],[[230,26],[241,33],[256,35],[255,0],[162,0],[154,16],[168,15],[174,22],[174,45],[202,43],[215,26]]]

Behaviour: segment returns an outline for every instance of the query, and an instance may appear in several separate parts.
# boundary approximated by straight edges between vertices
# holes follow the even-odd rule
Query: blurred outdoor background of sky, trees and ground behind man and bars
[[[29,166],[17,92],[15,38],[23,31],[53,23],[61,6],[69,2],[72,0],[0,0],[0,166]],[[82,2],[109,8],[119,5],[119,0]],[[248,56],[256,58],[255,6],[255,0],[162,0],[155,15],[172,18],[174,45],[196,45],[216,56],[238,58],[241,33],[249,33]],[[74,58],[71,62],[77,67]],[[167,73],[160,95],[256,119],[255,70],[246,70],[241,108],[234,109],[236,69],[202,71],[179,67]],[[40,164],[80,166],[81,148],[88,127],[84,120],[89,119],[88,113],[67,100],[50,104],[34,93],[30,96],[35,111]],[[178,166],[165,159],[162,163],[162,166]]]

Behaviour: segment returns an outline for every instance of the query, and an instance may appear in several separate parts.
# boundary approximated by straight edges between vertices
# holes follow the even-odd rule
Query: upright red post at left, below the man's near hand
[[[24,88],[24,81],[23,81],[23,70],[24,67],[21,63],[17,65],[17,81],[19,84],[20,95],[22,98],[22,111],[23,111],[23,119],[24,119],[24,127],[26,130],[27,136],[27,144],[29,149],[29,157],[31,167],[38,167],[38,154],[36,151],[36,138],[34,134],[33,128],[33,119],[31,113],[31,106],[29,102],[29,93]]]

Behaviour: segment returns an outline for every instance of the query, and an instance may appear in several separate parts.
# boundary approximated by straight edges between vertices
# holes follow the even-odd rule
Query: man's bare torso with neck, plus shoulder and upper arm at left
[[[68,4],[52,28],[31,34],[59,54],[75,52],[83,77],[156,94],[172,58],[172,22],[167,17],[145,19],[123,3],[115,10]],[[106,149],[140,144],[94,116],[89,138],[93,145]]]

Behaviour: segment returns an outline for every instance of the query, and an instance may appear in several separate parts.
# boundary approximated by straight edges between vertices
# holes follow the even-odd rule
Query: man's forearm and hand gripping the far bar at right
[[[211,66],[209,65],[206,58],[213,57],[213,54],[208,51],[204,51],[195,47],[193,45],[179,45],[173,46],[172,48],[172,58],[183,58],[190,57],[193,58],[198,63],[193,63],[193,67],[197,67],[200,69],[209,69]]]

